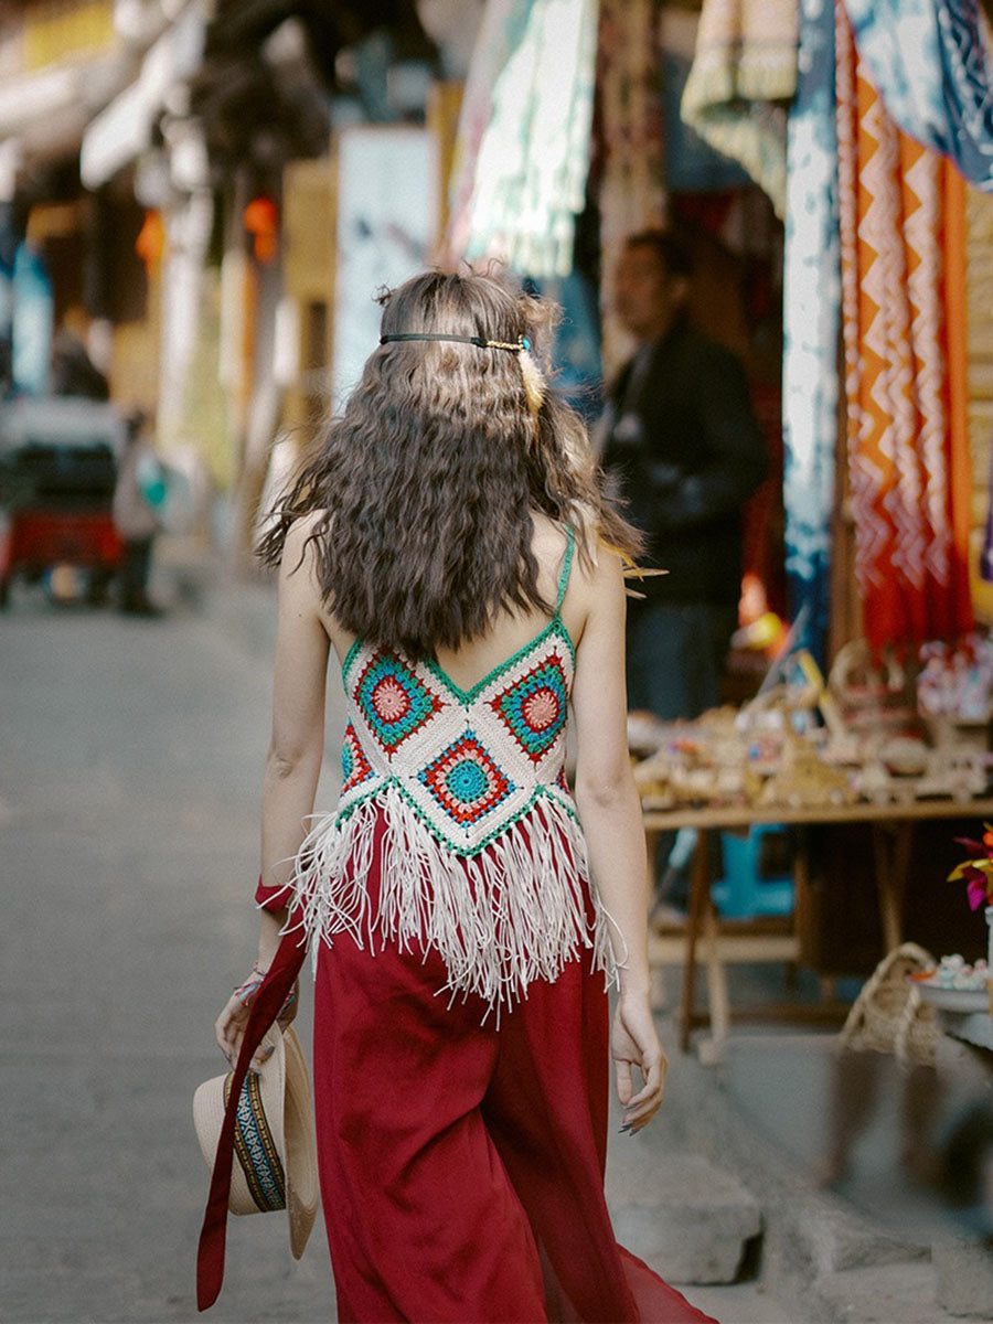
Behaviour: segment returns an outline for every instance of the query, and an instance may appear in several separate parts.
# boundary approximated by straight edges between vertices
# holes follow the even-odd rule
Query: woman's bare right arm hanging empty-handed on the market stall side
[[[645,829],[628,753],[624,577],[618,557],[604,548],[588,592],[589,610],[572,690],[576,806],[597,892],[613,920],[610,937],[621,993],[612,1051],[625,1125],[638,1131],[662,1103],[666,1058],[651,1018]],[[632,1066],[638,1066],[643,1078],[637,1094]]]

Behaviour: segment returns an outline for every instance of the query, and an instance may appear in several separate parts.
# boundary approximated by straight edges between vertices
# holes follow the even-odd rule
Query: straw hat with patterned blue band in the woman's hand
[[[318,1211],[318,1153],[314,1106],[303,1053],[293,1026],[274,1025],[261,1047],[273,1054],[241,1091],[228,1207],[233,1214],[285,1209],[290,1249],[303,1254]],[[232,1075],[205,1080],[193,1095],[193,1125],[208,1168],[213,1168]]]

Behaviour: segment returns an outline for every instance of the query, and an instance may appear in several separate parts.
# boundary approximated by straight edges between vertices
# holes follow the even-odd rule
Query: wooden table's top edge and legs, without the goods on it
[[[776,808],[706,808],[706,809],[653,809],[645,808],[645,833],[649,857],[654,862],[658,834],[678,831],[681,828],[698,830],[690,879],[690,912],[681,928],[667,925],[649,935],[649,956],[653,964],[682,964],[683,986],[679,1004],[679,1043],[683,1051],[690,1046],[690,1034],[696,1025],[710,1025],[711,1039],[702,1055],[716,1059],[727,1038],[731,1006],[727,994],[726,965],[736,961],[796,961],[800,955],[796,924],[784,920],[720,920],[711,902],[711,866],[707,833],[710,830],[767,825],[814,826],[821,824],[870,824],[875,857],[879,915],[883,925],[884,951],[890,952],[903,941],[903,899],[907,870],[914,841],[914,825],[941,818],[993,818],[993,797],[981,800],[914,800],[900,804],[857,804],[847,806],[825,805],[818,809]],[[801,850],[796,863],[797,895],[802,892],[806,858]],[[654,875],[653,875],[654,876]],[[707,970],[708,1012],[695,1010],[698,944],[704,944]],[[760,1009],[759,1014],[782,1016],[784,1008]],[[788,1009],[790,1017],[837,1018],[841,1009],[820,1005]],[[749,1009],[748,1016],[755,1016]]]

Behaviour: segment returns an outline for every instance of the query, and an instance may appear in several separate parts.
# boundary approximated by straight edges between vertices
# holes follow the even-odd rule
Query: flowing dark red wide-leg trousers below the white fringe
[[[424,957],[424,959],[422,959]],[[434,952],[322,947],[314,1090],[342,1321],[710,1319],[604,1201],[608,1006],[588,957],[481,1025]]]

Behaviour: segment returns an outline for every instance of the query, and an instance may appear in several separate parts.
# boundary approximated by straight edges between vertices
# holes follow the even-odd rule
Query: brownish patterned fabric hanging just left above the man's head
[[[613,269],[629,234],[662,226],[661,0],[601,0],[597,130],[602,356],[608,375],[632,351],[613,312]]]

